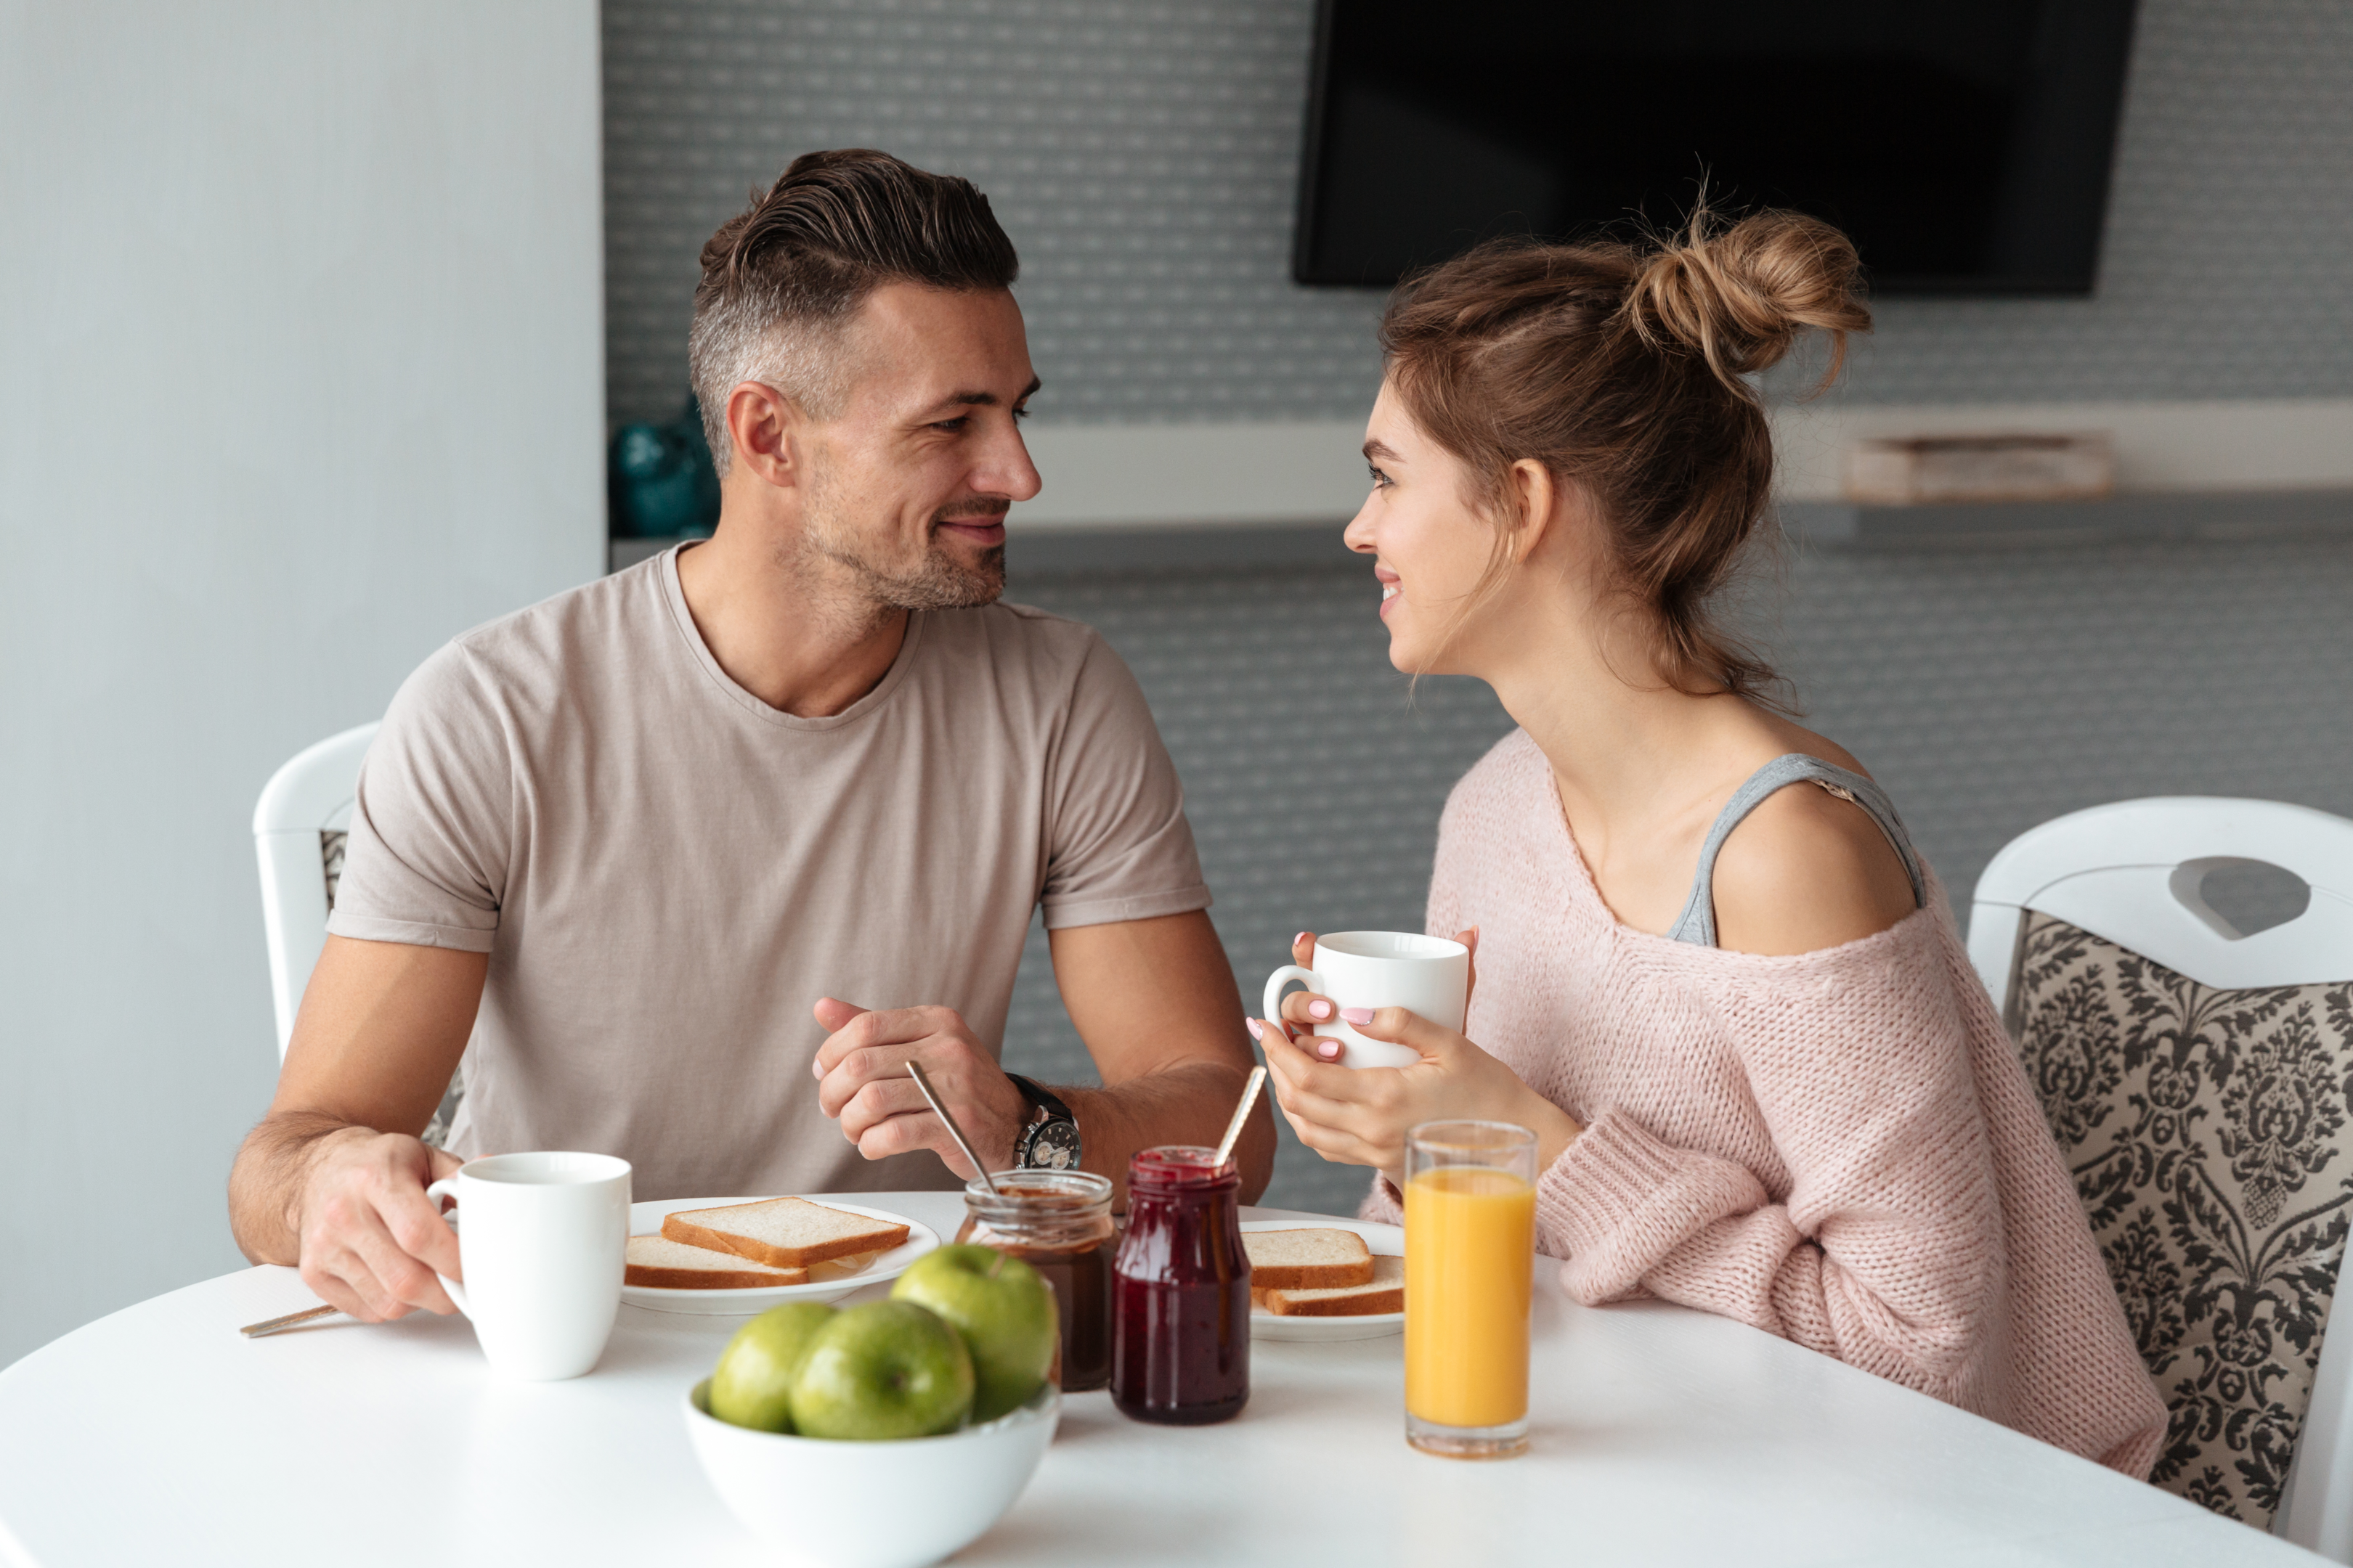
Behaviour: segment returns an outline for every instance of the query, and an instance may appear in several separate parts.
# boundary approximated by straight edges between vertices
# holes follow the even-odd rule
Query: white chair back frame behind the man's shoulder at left
[[[360,724],[296,752],[261,788],[254,806],[261,926],[271,947],[271,999],[278,1004],[278,1060],[285,1060],[294,1011],[327,945],[327,835],[341,835],[351,825],[360,759],[374,738],[376,726]],[[341,863],[341,853],[334,858]]]

